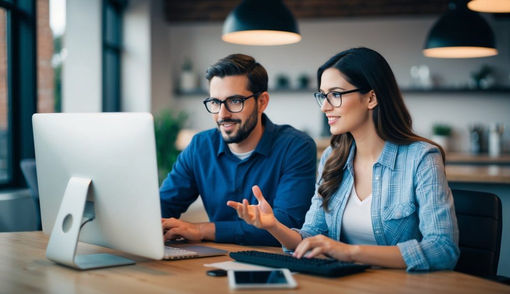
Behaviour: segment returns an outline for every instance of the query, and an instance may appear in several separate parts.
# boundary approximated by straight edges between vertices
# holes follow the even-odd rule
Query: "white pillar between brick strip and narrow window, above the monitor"
[[[101,111],[101,1],[67,0],[64,42],[62,111]]]

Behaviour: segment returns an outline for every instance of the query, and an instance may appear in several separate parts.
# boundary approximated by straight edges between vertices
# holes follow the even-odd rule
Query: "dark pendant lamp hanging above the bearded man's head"
[[[282,0],[243,0],[225,19],[225,42],[284,45],[299,42],[297,22]]]

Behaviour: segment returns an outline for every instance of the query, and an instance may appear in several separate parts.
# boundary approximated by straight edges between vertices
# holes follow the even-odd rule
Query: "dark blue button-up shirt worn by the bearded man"
[[[200,195],[216,226],[216,242],[280,246],[226,206],[244,198],[257,204],[251,187],[259,185],[279,222],[301,227],[314,194],[315,142],[291,126],[274,125],[265,114],[262,124],[262,138],[244,160],[232,154],[217,129],[195,135],[160,188],[162,216],[180,217]]]

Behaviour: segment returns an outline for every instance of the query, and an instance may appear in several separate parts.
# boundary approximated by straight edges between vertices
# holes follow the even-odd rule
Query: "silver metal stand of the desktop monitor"
[[[52,234],[49,236],[46,258],[77,269],[135,264],[133,260],[111,254],[75,255],[91,183],[92,180],[86,178],[69,179]],[[90,217],[85,218],[86,222],[94,217],[93,214],[86,214],[85,217],[87,216]]]

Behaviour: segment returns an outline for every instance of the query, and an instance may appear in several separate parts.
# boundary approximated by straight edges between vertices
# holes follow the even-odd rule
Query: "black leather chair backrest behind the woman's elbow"
[[[495,276],[501,248],[501,200],[488,192],[452,189],[461,256],[455,271]]]

